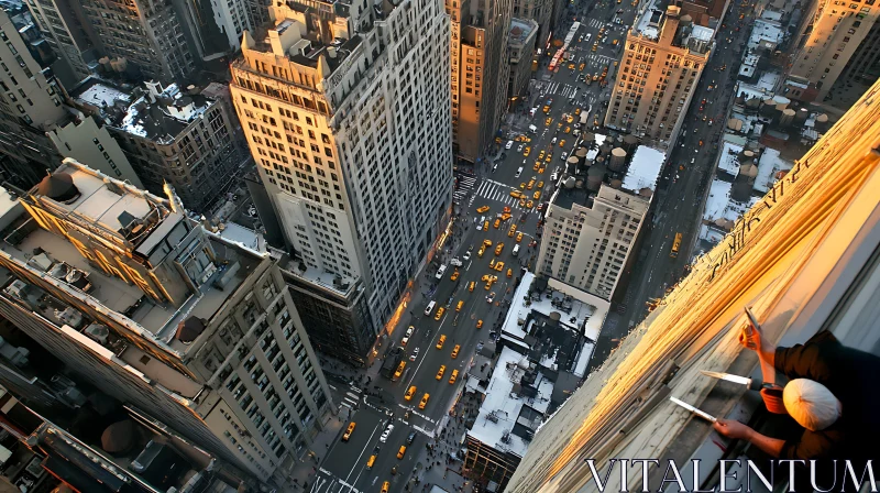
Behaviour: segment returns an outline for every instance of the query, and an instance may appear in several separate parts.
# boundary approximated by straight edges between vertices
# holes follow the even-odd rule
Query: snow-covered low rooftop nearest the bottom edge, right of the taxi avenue
[[[552,393],[553,382],[539,370],[530,369],[524,354],[504,348],[480,415],[468,435],[497,450],[522,457],[550,406]]]

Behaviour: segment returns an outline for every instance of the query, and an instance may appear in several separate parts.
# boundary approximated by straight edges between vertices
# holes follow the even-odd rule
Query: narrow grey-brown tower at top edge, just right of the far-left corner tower
[[[74,70],[77,80],[94,72],[100,54],[100,41],[91,23],[75,0],[26,0],[34,23],[58,58]]]

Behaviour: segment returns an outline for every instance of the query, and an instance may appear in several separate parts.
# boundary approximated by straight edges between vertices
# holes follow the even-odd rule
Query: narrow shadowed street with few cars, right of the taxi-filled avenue
[[[737,20],[740,13],[745,18]],[[706,189],[715,175],[718,152],[715,144],[721,140],[733,103],[736,74],[750,32],[749,25],[754,21],[754,11],[734,1],[725,19],[732,21],[725,23],[716,34],[715,51],[701,76],[682,124],[683,131],[668,158],[670,165],[663,169],[651,229],[647,231],[639,261],[629,276],[624,304],[617,307],[616,313],[608,314],[591,368],[602,364],[619,338],[647,316],[649,299],[662,297],[666,289],[675,285],[685,274],[691,254],[694,253],[692,245],[700,233]],[[717,85],[717,89],[707,90],[710,85]],[[705,109],[701,111],[704,99]],[[712,125],[708,124],[710,119],[713,120]],[[700,145],[701,141],[703,145]],[[694,162],[691,163],[691,160]],[[682,254],[673,259],[670,250],[679,232],[682,233]]]

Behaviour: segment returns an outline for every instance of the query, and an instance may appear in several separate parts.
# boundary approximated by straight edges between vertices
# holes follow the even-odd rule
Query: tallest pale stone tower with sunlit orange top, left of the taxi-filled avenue
[[[292,272],[319,291],[362,282],[374,341],[449,221],[449,21],[436,0],[270,13],[231,65],[232,99]]]

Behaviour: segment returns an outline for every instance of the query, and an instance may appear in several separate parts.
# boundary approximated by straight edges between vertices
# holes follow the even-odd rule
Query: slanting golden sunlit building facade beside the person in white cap
[[[727,476],[722,490],[765,489],[756,486],[758,476],[745,459],[752,459],[763,479],[773,483],[768,490],[811,489],[806,468],[792,464],[801,481],[787,486],[788,467],[780,464],[771,473],[765,469],[767,456],[756,456],[748,440],[721,437],[669,397],[718,418],[748,423],[765,436],[801,437],[803,429],[780,426],[746,386],[700,373],[760,379],[758,359],[738,342],[747,324],[744,306],[751,307],[762,337],[780,347],[827,331],[846,347],[880,352],[878,96],[880,83],[795,161],[714,249],[693,262],[690,274],[543,424],[507,492],[592,492],[598,491],[596,480],[604,491],[663,490],[673,478],[668,468],[672,460],[679,468],[674,475],[682,481],[673,486],[676,490],[713,491],[722,475]],[[867,387],[873,375],[857,377],[867,379],[859,383]],[[612,458],[616,462],[609,464]],[[586,459],[593,460],[600,478],[591,475]],[[639,459],[657,459],[659,464]],[[738,465],[728,462],[728,472],[739,473],[717,474],[722,459],[741,460]],[[629,460],[635,463],[622,480],[620,462]],[[641,465],[648,468],[644,485]],[[820,462],[816,471],[831,475],[829,467]],[[837,478],[844,478],[843,465],[838,468]],[[861,465],[855,469],[859,472],[854,476],[860,475]],[[867,474],[856,481],[871,487]],[[829,483],[827,478],[814,484]]]

